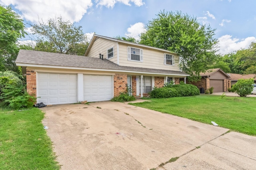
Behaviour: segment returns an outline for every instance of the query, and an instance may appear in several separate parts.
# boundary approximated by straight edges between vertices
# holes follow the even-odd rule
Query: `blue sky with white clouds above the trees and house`
[[[256,0],[0,0],[0,4],[11,5],[24,23],[62,16],[81,25],[88,37],[95,32],[138,39],[148,21],[165,10],[181,11],[210,24],[216,29],[221,54],[256,42]],[[26,39],[30,37],[22,40]]]

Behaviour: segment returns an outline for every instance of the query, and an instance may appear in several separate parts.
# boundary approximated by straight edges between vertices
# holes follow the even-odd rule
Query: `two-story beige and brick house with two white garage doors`
[[[48,105],[106,101],[127,86],[142,97],[189,76],[176,53],[95,34],[85,56],[20,50],[16,64],[26,73],[27,92]]]

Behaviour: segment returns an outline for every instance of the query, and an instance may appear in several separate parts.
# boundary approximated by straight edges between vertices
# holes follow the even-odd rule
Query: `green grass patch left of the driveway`
[[[0,169],[59,170],[52,143],[43,129],[44,113],[0,109]]]

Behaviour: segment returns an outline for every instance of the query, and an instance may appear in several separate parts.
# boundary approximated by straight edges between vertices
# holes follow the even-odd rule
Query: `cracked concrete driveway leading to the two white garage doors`
[[[42,111],[62,170],[255,169],[256,137],[222,127],[119,102]]]

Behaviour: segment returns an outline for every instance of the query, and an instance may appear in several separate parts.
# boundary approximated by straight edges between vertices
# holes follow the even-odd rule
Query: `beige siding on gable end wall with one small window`
[[[107,50],[114,47],[114,57],[109,59],[113,63],[117,64],[117,42],[110,41],[108,39],[98,38],[92,45],[88,53],[88,57],[100,58],[99,54],[104,56],[104,59],[107,59]]]

